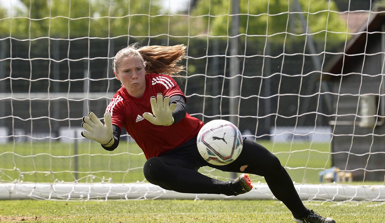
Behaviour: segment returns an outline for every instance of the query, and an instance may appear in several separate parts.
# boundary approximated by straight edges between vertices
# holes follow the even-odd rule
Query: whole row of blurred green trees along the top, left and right
[[[6,17],[0,10],[2,33],[16,38],[39,37],[116,37],[230,35],[232,1],[198,1],[191,14],[172,14],[162,8],[160,0],[22,0],[25,10],[16,17]],[[303,42],[306,32],[321,44],[345,41],[346,24],[329,0],[240,0],[239,33],[277,43]],[[150,5],[151,3],[151,5]],[[300,16],[306,21],[304,30]],[[29,19],[30,18],[30,19]],[[12,29],[12,30],[11,30]],[[345,33],[338,33],[345,32]]]

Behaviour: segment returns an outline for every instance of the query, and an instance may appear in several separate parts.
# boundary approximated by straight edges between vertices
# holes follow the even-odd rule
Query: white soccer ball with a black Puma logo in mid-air
[[[231,122],[213,120],[199,130],[198,151],[210,164],[222,166],[233,162],[243,148],[242,134]]]

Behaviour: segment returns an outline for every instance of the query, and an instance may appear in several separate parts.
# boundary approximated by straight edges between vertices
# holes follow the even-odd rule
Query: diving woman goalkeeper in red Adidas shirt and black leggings
[[[104,124],[90,112],[83,117],[81,134],[112,151],[125,128],[146,156],[147,181],[181,193],[236,196],[250,191],[248,174],[263,176],[274,196],[282,201],[297,223],[335,223],[304,206],[278,158],[262,145],[244,138],[239,157],[225,166],[214,166],[198,153],[196,137],[203,123],[186,113],[186,97],[171,75],[184,71],[186,46],[133,44],[114,57],[112,68],[122,87],[104,114]],[[198,172],[203,166],[242,173],[220,181]]]

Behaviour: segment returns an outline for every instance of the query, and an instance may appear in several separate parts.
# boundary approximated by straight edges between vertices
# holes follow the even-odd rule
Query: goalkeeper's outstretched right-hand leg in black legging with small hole
[[[245,139],[238,159],[220,169],[263,176],[274,196],[282,201],[294,216],[303,216],[308,211],[280,160],[256,142]]]

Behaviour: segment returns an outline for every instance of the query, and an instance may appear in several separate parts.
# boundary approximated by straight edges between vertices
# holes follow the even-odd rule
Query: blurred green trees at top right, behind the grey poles
[[[269,36],[269,41],[304,41],[306,32],[317,42],[336,44],[345,41],[346,24],[333,1],[298,0],[303,13],[294,7],[294,0],[240,0],[239,33],[249,36]],[[209,35],[227,36],[231,30],[231,1],[199,1],[192,15],[201,19],[204,29],[192,30],[193,35],[206,31]],[[204,16],[202,16],[204,15]],[[199,17],[200,16],[200,17]],[[305,19],[303,28],[300,16]],[[270,37],[271,36],[271,37]]]

